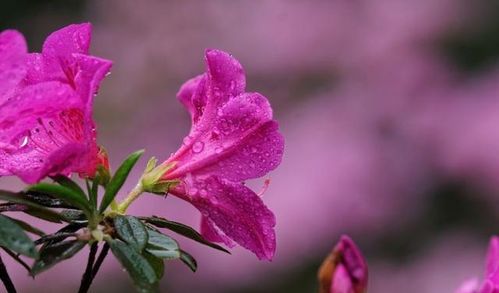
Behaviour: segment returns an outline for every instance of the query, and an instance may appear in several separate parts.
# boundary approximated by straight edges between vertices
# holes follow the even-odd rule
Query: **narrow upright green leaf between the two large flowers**
[[[142,156],[143,153],[144,150],[132,153],[125,159],[125,161],[123,161],[118,170],[116,170],[116,173],[114,174],[113,178],[111,178],[109,183],[106,185],[106,192],[104,193],[104,197],[102,198],[102,202],[99,209],[101,213],[103,213],[107,209],[107,207],[111,204],[111,202],[114,200],[114,198],[118,194],[118,191],[125,183],[133,166],[135,166],[135,164],[137,163],[137,161],[139,160],[140,156]]]

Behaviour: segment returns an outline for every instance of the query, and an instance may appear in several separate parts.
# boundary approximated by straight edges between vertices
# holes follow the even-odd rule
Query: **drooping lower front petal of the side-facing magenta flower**
[[[272,259],[276,248],[275,217],[251,189],[214,176],[194,178],[184,184],[188,186],[184,186],[180,197],[199,209],[213,227],[259,259]],[[172,193],[179,195],[178,187]]]

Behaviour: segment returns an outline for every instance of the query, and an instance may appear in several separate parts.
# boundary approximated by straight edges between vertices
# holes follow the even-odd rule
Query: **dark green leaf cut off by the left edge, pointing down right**
[[[3,215],[0,215],[0,246],[31,258],[38,257],[33,241],[18,224]]]

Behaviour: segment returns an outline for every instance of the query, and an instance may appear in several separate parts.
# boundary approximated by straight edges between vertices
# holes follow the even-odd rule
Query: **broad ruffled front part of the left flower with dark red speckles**
[[[66,84],[23,89],[0,108],[1,175],[34,183],[50,174],[92,169],[88,152],[95,137],[85,135],[83,111],[80,98]]]

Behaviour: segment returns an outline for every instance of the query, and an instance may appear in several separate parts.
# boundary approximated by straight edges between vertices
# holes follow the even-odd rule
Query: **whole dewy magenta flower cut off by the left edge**
[[[70,25],[28,53],[19,32],[0,33],[0,176],[95,173],[92,102],[111,62],[88,55],[90,38],[90,24]]]

